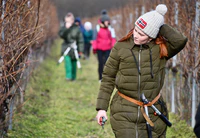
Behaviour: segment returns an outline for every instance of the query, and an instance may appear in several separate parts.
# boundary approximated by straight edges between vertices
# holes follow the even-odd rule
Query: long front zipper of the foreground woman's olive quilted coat
[[[141,62],[141,52],[142,52],[142,45],[140,45],[140,50],[139,50],[139,57],[138,57],[138,99],[140,100],[140,75],[141,75],[141,67],[140,67],[140,62]],[[140,106],[138,106],[138,115],[137,115],[137,121],[135,124],[135,130],[136,130],[136,138],[138,138],[138,121],[139,121],[139,117],[140,117]]]

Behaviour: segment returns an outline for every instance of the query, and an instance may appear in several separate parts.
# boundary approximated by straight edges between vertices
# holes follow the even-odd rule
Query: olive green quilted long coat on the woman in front
[[[115,44],[104,67],[96,110],[108,110],[115,87],[124,95],[139,101],[142,93],[149,101],[160,93],[167,60],[180,52],[187,42],[185,36],[168,25],[161,27],[160,34],[167,40],[167,58],[160,58],[159,45],[154,41],[139,46],[134,44],[131,37],[127,41]],[[154,105],[167,116],[162,97]],[[153,114],[150,107],[148,109],[150,119],[154,122],[153,138],[165,137],[166,124]],[[111,126],[116,137],[148,137],[146,120],[140,106],[115,93],[110,103],[110,112]]]

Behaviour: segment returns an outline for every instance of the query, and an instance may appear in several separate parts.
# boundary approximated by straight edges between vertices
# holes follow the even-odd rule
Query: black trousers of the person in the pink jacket
[[[102,79],[103,67],[110,55],[110,50],[97,50],[97,57],[98,57],[98,72],[99,72],[99,80]]]

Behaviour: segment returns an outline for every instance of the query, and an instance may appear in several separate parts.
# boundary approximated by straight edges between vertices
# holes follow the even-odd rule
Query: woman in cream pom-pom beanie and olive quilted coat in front
[[[167,125],[148,108],[145,116],[141,99],[149,102],[166,117],[166,104],[160,95],[166,62],[186,45],[187,38],[164,24],[167,7],[159,4],[155,10],[141,15],[135,27],[113,47],[105,64],[97,97],[97,122],[107,117],[110,105],[110,123],[117,138],[147,138],[146,123],[152,126],[153,138],[165,138]],[[114,88],[117,91],[111,102]]]

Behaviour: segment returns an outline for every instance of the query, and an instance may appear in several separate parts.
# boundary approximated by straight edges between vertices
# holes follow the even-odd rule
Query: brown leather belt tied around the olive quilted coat
[[[138,101],[138,100],[135,100],[135,99],[133,99],[133,98],[130,98],[130,97],[128,97],[128,96],[122,94],[122,93],[119,92],[119,91],[118,91],[118,94],[119,94],[122,98],[126,99],[127,101],[130,101],[130,102],[132,102],[132,103],[134,103],[134,104],[137,104],[137,105],[141,106],[142,115],[144,116],[144,118],[146,119],[146,121],[147,121],[152,127],[154,126],[153,122],[150,120],[150,118],[149,118],[149,117],[147,116],[147,114],[145,113],[145,111],[144,111],[144,106],[152,106],[152,105],[153,105],[156,101],[158,101],[158,99],[160,98],[160,93],[159,93],[151,102],[149,102],[148,104],[144,104],[144,103],[141,102],[141,101]]]

